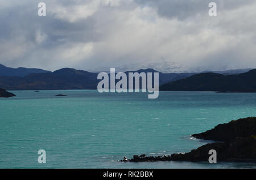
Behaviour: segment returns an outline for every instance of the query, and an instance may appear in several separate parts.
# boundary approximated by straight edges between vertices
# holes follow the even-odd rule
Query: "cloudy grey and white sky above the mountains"
[[[217,16],[209,16],[210,2]],[[0,63],[256,68],[255,10],[254,0],[0,0]]]

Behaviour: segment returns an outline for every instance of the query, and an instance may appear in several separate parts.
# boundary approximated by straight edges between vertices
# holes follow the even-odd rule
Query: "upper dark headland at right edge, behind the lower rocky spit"
[[[226,124],[218,125],[212,130],[193,134],[197,139],[218,140],[228,142],[235,138],[247,138],[256,134],[256,117],[238,119]]]

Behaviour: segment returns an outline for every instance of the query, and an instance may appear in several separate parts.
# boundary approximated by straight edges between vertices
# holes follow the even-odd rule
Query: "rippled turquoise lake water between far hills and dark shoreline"
[[[189,152],[191,134],[256,116],[256,93],[13,91],[0,99],[0,168],[256,168],[256,164],[119,162]],[[68,95],[56,97],[57,94]],[[38,150],[47,163],[38,163]]]

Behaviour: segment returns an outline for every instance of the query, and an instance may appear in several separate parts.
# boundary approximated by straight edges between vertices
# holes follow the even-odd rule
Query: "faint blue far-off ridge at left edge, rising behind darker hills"
[[[39,68],[11,68],[0,64],[0,76],[19,76],[24,77],[28,74],[46,73],[51,71],[42,70]]]

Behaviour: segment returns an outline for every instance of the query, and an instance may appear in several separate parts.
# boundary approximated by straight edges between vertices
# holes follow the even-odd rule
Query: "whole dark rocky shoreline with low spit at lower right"
[[[256,117],[231,121],[192,136],[198,139],[221,142],[205,144],[191,152],[176,153],[170,156],[134,155],[131,159],[124,157],[122,162],[208,161],[211,149],[216,150],[218,161],[256,162]]]

